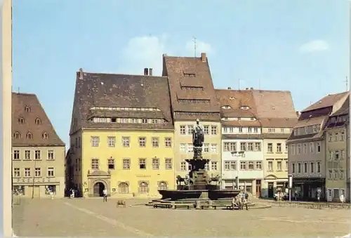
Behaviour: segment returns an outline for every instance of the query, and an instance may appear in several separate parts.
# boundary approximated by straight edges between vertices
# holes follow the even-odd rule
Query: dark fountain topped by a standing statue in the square
[[[182,178],[177,176],[177,190],[159,190],[161,201],[180,200],[218,200],[232,199],[239,194],[240,190],[221,190],[220,176],[208,176],[205,169],[210,159],[202,158],[202,145],[204,144],[204,129],[199,124],[192,130],[192,144],[194,145],[194,156],[186,159],[191,165],[191,170]],[[215,185],[211,183],[216,183]]]

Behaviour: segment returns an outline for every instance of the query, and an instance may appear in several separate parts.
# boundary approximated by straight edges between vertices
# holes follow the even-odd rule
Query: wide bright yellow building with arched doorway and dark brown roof
[[[84,197],[155,197],[174,189],[173,120],[166,77],[77,72],[70,183]]]

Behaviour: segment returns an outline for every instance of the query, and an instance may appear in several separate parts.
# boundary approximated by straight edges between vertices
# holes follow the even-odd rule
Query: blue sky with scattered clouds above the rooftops
[[[75,72],[161,74],[208,53],[216,88],[289,90],[296,110],[345,91],[346,0],[13,0],[13,91],[37,93],[69,144]]]

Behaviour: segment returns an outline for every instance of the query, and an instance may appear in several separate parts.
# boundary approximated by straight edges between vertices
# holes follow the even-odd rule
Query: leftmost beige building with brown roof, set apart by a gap
[[[65,143],[37,95],[12,93],[13,190],[25,197],[65,194]]]

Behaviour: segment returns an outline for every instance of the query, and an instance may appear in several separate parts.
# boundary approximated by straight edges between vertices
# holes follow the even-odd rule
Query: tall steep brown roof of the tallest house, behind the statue
[[[172,110],[176,112],[174,119],[199,118],[220,121],[219,107],[206,54],[202,53],[201,58],[164,55],[163,61],[162,75],[168,77]],[[201,112],[204,116],[197,116],[194,112]]]

